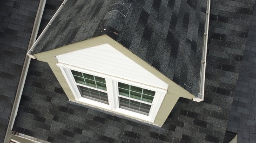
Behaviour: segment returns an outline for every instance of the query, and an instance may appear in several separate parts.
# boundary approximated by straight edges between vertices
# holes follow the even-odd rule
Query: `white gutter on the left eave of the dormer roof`
[[[49,21],[48,25],[45,27],[45,29],[42,31],[42,33],[40,34],[40,36],[38,37],[38,39],[35,41],[35,43],[32,45],[32,47],[30,48],[30,50],[27,52],[27,56],[29,56],[30,58],[36,59],[36,57],[34,55],[32,55],[32,51],[35,48],[35,45],[40,41],[40,39],[42,38],[42,36],[44,35],[44,33],[47,31],[47,29],[49,28],[49,26],[52,24],[52,22],[54,21],[54,19],[56,18],[56,16],[58,15],[58,13],[61,11],[62,7],[66,4],[67,0],[64,0],[61,4],[61,6],[59,7],[59,9],[56,11],[56,13],[54,14],[54,16],[52,17],[52,19]]]

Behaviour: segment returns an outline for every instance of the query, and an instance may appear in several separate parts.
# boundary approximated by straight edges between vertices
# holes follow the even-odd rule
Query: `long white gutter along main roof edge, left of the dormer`
[[[39,30],[39,26],[40,26],[40,22],[42,19],[45,4],[46,4],[46,0],[40,0],[27,50],[31,47],[32,44],[34,44],[34,42],[36,40],[36,36],[37,36],[38,30]],[[30,64],[30,60],[31,60],[30,57],[28,57],[28,56],[25,57],[25,61],[24,61],[23,67],[22,67],[21,75],[20,75],[20,81],[18,83],[17,92],[15,94],[15,99],[13,102],[12,112],[11,112],[11,115],[9,118],[9,123],[7,126],[6,135],[4,138],[4,143],[9,143],[9,141],[12,138],[13,124],[14,124],[14,121],[15,121],[15,118],[16,118],[16,115],[18,112],[19,105],[20,105],[20,98],[21,98],[21,94],[23,92],[23,87],[24,87],[25,81],[26,81],[27,71],[28,71],[28,67]]]

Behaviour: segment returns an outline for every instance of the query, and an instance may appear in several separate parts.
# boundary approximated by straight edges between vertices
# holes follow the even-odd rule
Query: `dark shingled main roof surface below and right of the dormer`
[[[193,7],[193,1],[188,0],[187,3]],[[47,63],[33,60],[14,131],[55,143],[222,143],[248,35],[247,22],[252,5],[253,1],[212,1],[205,100],[198,103],[179,99],[162,128],[68,103]],[[127,42],[130,50],[136,43],[135,39]],[[124,40],[117,40],[125,45]],[[251,133],[255,132],[251,130]]]

